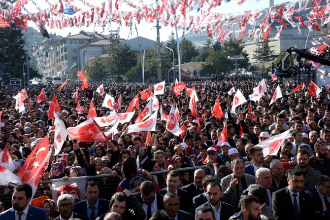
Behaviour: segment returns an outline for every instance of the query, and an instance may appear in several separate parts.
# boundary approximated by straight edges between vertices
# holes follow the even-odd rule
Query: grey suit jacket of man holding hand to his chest
[[[249,174],[244,174],[244,177],[245,177],[245,181],[246,181],[247,186],[249,186],[250,184],[256,183],[256,179],[255,179],[254,176],[251,176]],[[236,189],[231,191],[231,188],[229,187],[229,185],[231,183],[231,179],[233,179],[233,178],[234,178],[234,174],[231,174],[231,175],[228,175],[227,177],[224,177],[221,180],[221,187],[222,187],[222,191],[226,195],[227,202],[229,204],[231,204],[232,207],[234,207],[234,210],[236,212],[238,212],[239,211],[239,209],[238,209],[238,202],[239,201],[238,201],[238,198],[237,198]]]

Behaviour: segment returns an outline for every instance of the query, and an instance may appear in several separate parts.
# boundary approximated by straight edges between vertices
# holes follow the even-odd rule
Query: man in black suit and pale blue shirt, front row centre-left
[[[133,195],[137,198],[145,212],[145,220],[149,220],[157,210],[164,209],[164,196],[156,192],[154,183],[150,181],[142,182],[140,192],[135,192]]]

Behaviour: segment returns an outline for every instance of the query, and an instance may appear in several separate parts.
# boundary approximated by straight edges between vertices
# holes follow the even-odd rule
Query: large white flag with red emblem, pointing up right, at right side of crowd
[[[288,131],[283,132],[282,134],[275,135],[271,138],[268,138],[267,140],[264,140],[263,142],[260,142],[255,147],[258,146],[263,148],[264,157],[268,155],[275,156],[277,155],[278,150],[280,149],[282,143],[288,137],[290,132],[291,128]]]

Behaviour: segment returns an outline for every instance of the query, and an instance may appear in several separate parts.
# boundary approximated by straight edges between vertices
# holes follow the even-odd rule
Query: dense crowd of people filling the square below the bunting
[[[0,220],[311,220],[330,219],[330,96],[326,88],[318,97],[307,88],[281,80],[267,80],[267,93],[259,101],[249,95],[260,78],[245,76],[242,80],[204,78],[186,82],[198,96],[197,117],[189,109],[190,97],[183,90],[178,96],[165,85],[157,95],[160,115],[177,107],[183,132],[174,136],[166,129],[166,121],[158,117],[156,130],[129,133],[138,109],[130,122],[119,124],[118,133],[104,142],[66,141],[57,155],[52,155],[42,180],[103,175],[88,181],[85,197],[62,194],[57,199],[45,191],[47,198],[39,207],[29,205],[32,187],[18,184],[12,192],[11,207],[0,203]],[[66,128],[87,120],[90,103],[99,117],[111,114],[102,107],[103,96],[96,92],[101,83],[90,82],[81,90],[80,84],[68,83],[44,88],[47,101],[36,103],[41,88],[26,88],[29,100],[26,110],[15,110],[19,89],[0,91],[0,149],[7,148],[18,174],[34,147],[47,134],[49,146],[54,145],[53,120],[48,118],[50,100],[57,97],[61,111],[58,116]],[[283,97],[269,105],[277,84]],[[152,84],[119,84],[103,82],[105,93],[118,100],[126,112],[132,99]],[[72,98],[76,88],[78,96]],[[231,113],[234,94],[239,89],[247,102]],[[216,99],[224,117],[212,115]],[[146,107],[139,98],[139,109]],[[76,109],[79,104],[83,110]],[[251,109],[251,111],[249,111]],[[226,127],[225,127],[226,125]],[[227,128],[228,142],[219,141]],[[102,127],[104,132],[111,127]],[[264,155],[258,144],[282,134],[291,133],[276,156]],[[221,139],[222,140],[222,139]],[[209,166],[211,169],[181,168]],[[167,170],[166,173],[156,171]],[[215,171],[209,175],[208,170]],[[108,176],[104,176],[107,174]],[[190,181],[193,179],[193,182]],[[41,182],[42,183],[42,182]],[[109,187],[113,185],[114,187]],[[0,200],[1,201],[1,200]]]

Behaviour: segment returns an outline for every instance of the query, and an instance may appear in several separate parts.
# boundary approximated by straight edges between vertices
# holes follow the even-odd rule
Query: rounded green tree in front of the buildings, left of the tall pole
[[[127,44],[114,44],[109,49],[109,58],[107,59],[107,68],[111,73],[126,75],[126,73],[136,65],[136,56],[130,50]]]

